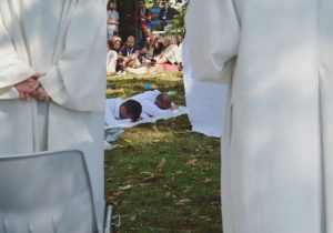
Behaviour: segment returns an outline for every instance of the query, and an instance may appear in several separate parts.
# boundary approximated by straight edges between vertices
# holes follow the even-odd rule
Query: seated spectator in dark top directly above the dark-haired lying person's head
[[[140,49],[135,45],[133,36],[128,37],[127,44],[120,50],[120,54],[124,59],[125,67],[139,68],[141,65],[139,60]]]

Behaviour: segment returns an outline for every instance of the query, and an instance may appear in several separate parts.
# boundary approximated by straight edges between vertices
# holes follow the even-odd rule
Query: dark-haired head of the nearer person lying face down
[[[127,100],[119,107],[119,116],[121,119],[131,119],[138,121],[142,112],[142,105],[135,100]]]

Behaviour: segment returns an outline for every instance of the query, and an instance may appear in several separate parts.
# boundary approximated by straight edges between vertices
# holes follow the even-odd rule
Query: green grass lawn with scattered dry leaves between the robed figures
[[[108,98],[128,98],[144,84],[168,92],[185,105],[180,73],[108,79]],[[105,152],[105,199],[121,214],[124,232],[219,233],[220,139],[191,132],[188,116],[127,129]]]

